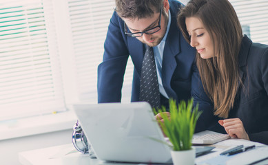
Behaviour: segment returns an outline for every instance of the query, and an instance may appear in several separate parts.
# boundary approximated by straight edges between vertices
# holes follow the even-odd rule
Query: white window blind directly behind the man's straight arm
[[[114,0],[68,1],[79,100],[97,102],[97,67],[103,59],[103,44],[114,12]],[[122,102],[130,101],[133,65],[127,63]]]

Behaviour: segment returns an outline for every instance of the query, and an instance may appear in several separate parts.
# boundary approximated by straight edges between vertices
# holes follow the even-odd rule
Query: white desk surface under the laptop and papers
[[[204,160],[209,159],[209,157],[213,157],[214,155],[222,152],[223,150],[229,148],[230,146],[236,146],[244,144],[245,146],[249,146],[252,144],[256,145],[256,149],[261,148],[263,152],[267,153],[268,156],[268,146],[263,144],[250,142],[247,140],[238,140],[238,139],[229,139],[223,142],[218,142],[212,146],[216,146],[214,148],[214,153],[209,153],[207,155],[197,157],[196,164],[203,164]],[[254,149],[254,150],[256,150]],[[247,151],[250,152],[250,151]],[[247,153],[245,152],[245,153]],[[239,154],[238,154],[239,155]],[[40,164],[50,164],[50,165],[73,165],[73,164],[113,164],[112,162],[103,162],[99,159],[90,159],[89,155],[84,155],[83,153],[79,153],[75,150],[72,144],[65,144],[61,146],[52,146],[49,148],[41,148],[33,151],[25,151],[19,153],[19,161],[23,165],[40,165]],[[116,163],[117,164],[117,163]],[[268,159],[265,162],[260,162],[258,164],[268,164]],[[130,165],[130,164],[128,164]]]

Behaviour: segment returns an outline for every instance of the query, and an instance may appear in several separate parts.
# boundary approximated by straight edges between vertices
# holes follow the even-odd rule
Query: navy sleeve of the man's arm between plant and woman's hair
[[[218,120],[220,120],[220,118],[214,115],[214,106],[212,101],[207,97],[207,94],[205,94],[196,65],[194,65],[194,72],[192,74],[191,94],[194,98],[194,106],[198,104],[198,111],[202,111],[196,123],[195,132],[210,130],[225,133],[223,126],[218,124]]]

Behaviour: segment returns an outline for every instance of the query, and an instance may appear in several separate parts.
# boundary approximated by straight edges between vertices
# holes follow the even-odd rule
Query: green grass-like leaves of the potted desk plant
[[[160,113],[163,122],[158,120],[163,133],[169,137],[169,141],[173,144],[174,151],[185,151],[192,148],[192,137],[196,122],[201,114],[198,111],[198,104],[193,107],[194,99],[184,100],[179,104],[175,100],[169,99],[169,114],[167,115],[166,108],[154,109],[154,113]]]

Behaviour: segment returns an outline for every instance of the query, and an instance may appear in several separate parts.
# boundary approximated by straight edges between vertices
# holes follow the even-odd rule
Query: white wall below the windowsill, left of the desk
[[[72,129],[0,140],[0,164],[17,165],[19,152],[68,143],[72,143]]]

